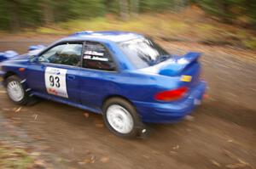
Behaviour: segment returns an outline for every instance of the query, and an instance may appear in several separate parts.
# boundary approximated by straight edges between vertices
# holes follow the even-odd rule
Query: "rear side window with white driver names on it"
[[[83,67],[96,70],[115,70],[115,65],[108,49],[99,42],[86,42]]]

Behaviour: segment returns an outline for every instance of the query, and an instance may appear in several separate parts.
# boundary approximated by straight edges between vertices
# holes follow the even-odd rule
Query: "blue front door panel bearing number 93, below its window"
[[[79,103],[79,71],[79,67],[33,64],[29,67],[27,82],[33,92]]]

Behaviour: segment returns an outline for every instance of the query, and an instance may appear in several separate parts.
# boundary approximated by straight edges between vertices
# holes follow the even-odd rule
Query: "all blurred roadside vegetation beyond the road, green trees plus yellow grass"
[[[255,0],[0,0],[0,23],[2,31],[137,31],[256,48]]]

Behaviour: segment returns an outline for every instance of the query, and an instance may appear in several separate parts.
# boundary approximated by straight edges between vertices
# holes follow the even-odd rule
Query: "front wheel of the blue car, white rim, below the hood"
[[[6,81],[6,90],[9,96],[15,104],[25,105],[32,101],[29,94],[26,92],[26,88],[21,83],[18,76],[9,76]]]

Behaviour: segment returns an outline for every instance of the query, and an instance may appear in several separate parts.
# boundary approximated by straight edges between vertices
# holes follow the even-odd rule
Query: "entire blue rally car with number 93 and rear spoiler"
[[[125,138],[146,132],[144,122],[180,121],[207,87],[201,54],[174,56],[132,32],[82,31],[29,49],[1,53],[0,76],[12,101],[39,97],[90,110]]]

